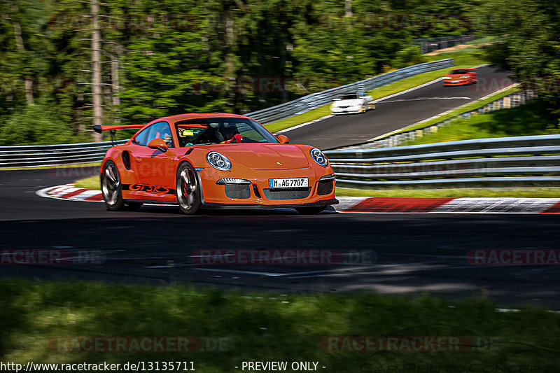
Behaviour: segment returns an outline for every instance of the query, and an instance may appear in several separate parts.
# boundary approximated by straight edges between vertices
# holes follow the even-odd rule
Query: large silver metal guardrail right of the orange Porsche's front
[[[560,186],[560,135],[327,150],[337,185]]]

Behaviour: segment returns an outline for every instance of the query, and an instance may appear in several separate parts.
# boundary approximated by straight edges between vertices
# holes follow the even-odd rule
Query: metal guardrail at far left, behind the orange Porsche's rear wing
[[[127,140],[60,145],[1,146],[0,168],[101,162],[107,149]]]

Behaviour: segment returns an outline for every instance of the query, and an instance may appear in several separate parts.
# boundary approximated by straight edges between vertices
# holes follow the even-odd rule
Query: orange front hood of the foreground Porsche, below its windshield
[[[232,164],[253,169],[298,169],[309,166],[306,151],[300,146],[280,143],[230,143],[204,146],[228,157]]]

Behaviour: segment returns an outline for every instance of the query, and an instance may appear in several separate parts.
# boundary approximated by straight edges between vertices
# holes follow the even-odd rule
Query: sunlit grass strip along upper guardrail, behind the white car
[[[466,69],[468,67],[478,66],[486,63],[482,55],[482,51],[479,50],[476,45],[473,45],[472,47],[466,48],[465,50],[461,50],[459,52],[449,52],[442,53],[437,56],[430,56],[429,60],[437,61],[438,59],[445,58],[453,58],[454,64],[456,65],[454,66],[454,68],[456,69]],[[380,99],[381,97],[386,97],[390,94],[402,92],[418,85],[428,83],[434,79],[442,77],[444,73],[447,73],[448,71],[449,68],[445,68],[430,71],[428,73],[421,73],[407,79],[399,80],[395,83],[384,85],[383,87],[375,88],[374,90],[368,91],[367,94],[370,94],[370,96],[372,96],[374,100]],[[325,115],[330,114],[329,106],[330,104],[321,106],[320,108],[316,108],[311,111],[307,111],[307,113],[303,113],[301,115],[295,115],[283,120],[277,120],[276,122],[265,125],[265,127],[267,127],[270,132],[274,133],[279,132],[282,129],[294,127],[295,125],[301,125],[302,123],[310,122],[311,120],[323,118]]]

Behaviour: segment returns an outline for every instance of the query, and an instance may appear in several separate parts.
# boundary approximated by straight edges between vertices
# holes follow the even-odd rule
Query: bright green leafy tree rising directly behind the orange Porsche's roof
[[[130,35],[123,58],[122,115],[130,122],[146,122],[221,108],[223,101],[204,90],[212,74],[204,42],[206,21],[198,3],[164,0],[150,3],[149,8],[148,3],[141,4],[132,12],[166,19]]]

